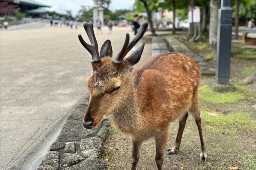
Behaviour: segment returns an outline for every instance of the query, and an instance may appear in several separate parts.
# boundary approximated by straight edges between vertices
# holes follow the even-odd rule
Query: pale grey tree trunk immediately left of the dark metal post
[[[220,1],[210,0],[210,28],[209,28],[209,44],[216,53],[217,46],[217,27],[218,27],[218,9]]]

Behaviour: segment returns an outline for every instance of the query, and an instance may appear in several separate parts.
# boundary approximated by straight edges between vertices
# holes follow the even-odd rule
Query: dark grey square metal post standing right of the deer
[[[231,0],[221,0],[218,20],[216,83],[229,83],[231,38],[232,38],[232,8]]]

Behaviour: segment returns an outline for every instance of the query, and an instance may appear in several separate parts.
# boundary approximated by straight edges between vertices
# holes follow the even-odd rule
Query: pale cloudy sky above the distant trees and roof
[[[72,15],[75,16],[81,5],[90,6],[94,5],[93,0],[36,0],[37,2],[51,5],[50,11],[59,13],[66,13],[66,10],[71,10]],[[135,0],[111,0],[109,9],[115,11],[117,9],[131,9]],[[47,8],[49,9],[49,8]]]

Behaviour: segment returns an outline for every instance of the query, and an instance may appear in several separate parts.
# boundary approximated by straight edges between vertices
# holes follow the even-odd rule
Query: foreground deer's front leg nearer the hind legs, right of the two
[[[155,163],[158,170],[163,169],[164,151],[168,138],[168,127],[155,136]]]

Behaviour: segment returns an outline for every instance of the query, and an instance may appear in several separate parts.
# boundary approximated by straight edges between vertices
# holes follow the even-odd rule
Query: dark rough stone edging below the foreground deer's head
[[[103,142],[110,123],[105,119],[94,129],[85,129],[82,117],[88,106],[88,97],[70,113],[57,140],[51,145],[37,170],[105,170]]]

